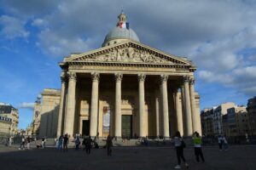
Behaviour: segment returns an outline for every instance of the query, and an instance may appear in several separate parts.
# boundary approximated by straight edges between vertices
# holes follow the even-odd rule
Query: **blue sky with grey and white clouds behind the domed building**
[[[140,41],[197,66],[201,109],[256,94],[254,0],[0,0],[0,102],[32,122],[44,88],[61,88],[61,62],[100,48],[121,9]]]

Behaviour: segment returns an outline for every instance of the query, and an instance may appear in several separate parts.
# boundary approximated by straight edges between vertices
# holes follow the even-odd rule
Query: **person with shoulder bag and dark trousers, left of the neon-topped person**
[[[177,166],[174,167],[174,168],[175,169],[180,169],[181,168],[181,166],[180,166],[181,159],[185,163],[185,166],[187,168],[189,168],[189,164],[186,162],[186,160],[183,156],[183,148],[185,147],[184,140],[183,140],[183,138],[181,137],[181,135],[178,131],[175,133],[174,145],[175,145],[176,154],[177,154]]]

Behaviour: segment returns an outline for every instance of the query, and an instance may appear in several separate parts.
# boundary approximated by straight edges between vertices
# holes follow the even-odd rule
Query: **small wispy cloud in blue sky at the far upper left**
[[[0,25],[3,26],[0,33],[9,39],[15,37],[28,37],[29,32],[25,30],[25,21],[19,20],[18,18],[11,17],[8,15],[2,15],[0,17]]]

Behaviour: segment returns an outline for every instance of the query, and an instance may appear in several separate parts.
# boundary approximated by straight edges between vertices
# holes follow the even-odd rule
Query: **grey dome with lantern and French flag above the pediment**
[[[133,40],[139,42],[139,38],[135,31],[129,28],[129,23],[126,22],[126,15],[124,13],[119,14],[119,21],[117,26],[113,30],[109,31],[102,43],[102,47],[111,45],[116,42],[124,40]]]

